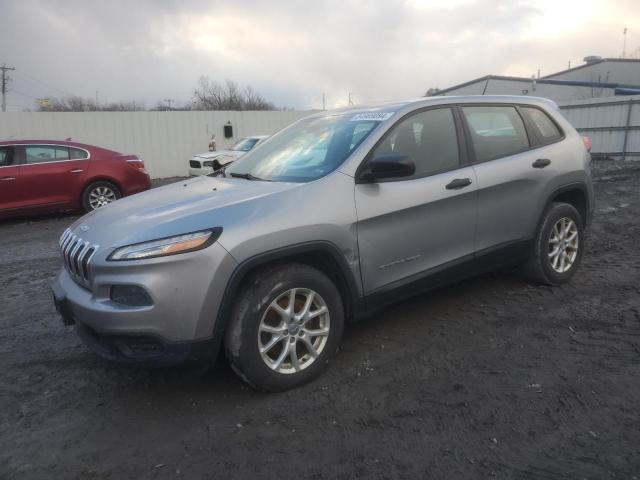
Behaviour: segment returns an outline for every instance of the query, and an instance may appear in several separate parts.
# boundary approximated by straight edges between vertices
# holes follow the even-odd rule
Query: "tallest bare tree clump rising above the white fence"
[[[233,80],[220,85],[209,77],[200,77],[193,99],[195,110],[275,110],[274,105],[252,87],[241,90]]]

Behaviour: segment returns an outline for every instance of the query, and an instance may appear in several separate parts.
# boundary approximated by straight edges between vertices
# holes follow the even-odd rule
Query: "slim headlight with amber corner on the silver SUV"
[[[177,253],[193,252],[208,247],[222,233],[222,228],[202,230],[200,232],[161,238],[150,242],[136,243],[116,249],[108,260],[140,260],[145,258],[164,257]]]

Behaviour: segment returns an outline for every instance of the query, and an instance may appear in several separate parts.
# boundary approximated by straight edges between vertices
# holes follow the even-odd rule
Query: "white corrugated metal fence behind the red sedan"
[[[187,175],[187,160],[207,151],[212,134],[219,150],[247,135],[269,135],[313,112],[7,112],[0,113],[0,141],[64,140],[139,155],[153,178]],[[223,125],[231,122],[233,138]]]

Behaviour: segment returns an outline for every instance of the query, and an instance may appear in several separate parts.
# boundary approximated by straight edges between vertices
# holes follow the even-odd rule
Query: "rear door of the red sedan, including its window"
[[[69,155],[65,145],[22,145],[21,182],[25,207],[75,207],[89,162]]]

